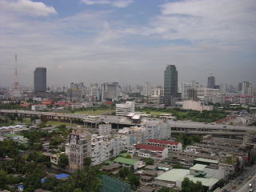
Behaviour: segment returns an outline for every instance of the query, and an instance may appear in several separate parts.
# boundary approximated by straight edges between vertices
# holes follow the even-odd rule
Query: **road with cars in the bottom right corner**
[[[249,184],[252,183],[254,191],[256,191],[256,165],[254,166],[249,166],[246,167],[246,170],[244,170],[244,172],[242,173],[242,175],[238,176],[238,178],[243,178],[242,180],[242,184],[238,184],[238,182],[240,180],[238,180],[238,178],[235,178],[234,180],[232,180],[231,182],[229,182],[228,184],[226,184],[226,186],[224,186],[222,188],[222,190],[228,190],[230,192],[247,192],[249,191]],[[248,179],[248,177],[254,174],[253,177],[251,179]],[[237,188],[235,190],[231,189],[231,186],[235,185],[237,186]]]

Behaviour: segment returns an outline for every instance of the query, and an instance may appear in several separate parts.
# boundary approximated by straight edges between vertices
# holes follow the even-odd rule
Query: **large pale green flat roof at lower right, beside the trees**
[[[183,180],[186,175],[190,174],[190,170],[185,169],[172,169],[159,175],[156,179],[168,181],[168,182],[176,182],[179,180]]]

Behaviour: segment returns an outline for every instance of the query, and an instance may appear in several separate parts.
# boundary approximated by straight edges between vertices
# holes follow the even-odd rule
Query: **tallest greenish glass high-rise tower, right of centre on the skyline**
[[[164,98],[166,106],[174,106],[175,98],[178,94],[178,71],[176,66],[168,65],[165,70],[164,78]]]

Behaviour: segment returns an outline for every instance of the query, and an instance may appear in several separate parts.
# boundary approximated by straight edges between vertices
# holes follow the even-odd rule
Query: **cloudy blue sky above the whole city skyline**
[[[256,85],[255,0],[0,0],[0,86],[70,82]]]

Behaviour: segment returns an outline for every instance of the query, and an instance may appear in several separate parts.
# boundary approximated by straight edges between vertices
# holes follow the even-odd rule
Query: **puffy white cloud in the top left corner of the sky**
[[[46,6],[43,2],[32,2],[30,0],[6,1],[1,0],[0,6],[4,12],[15,12],[19,14],[30,14],[35,16],[48,16],[57,14],[52,6]]]

